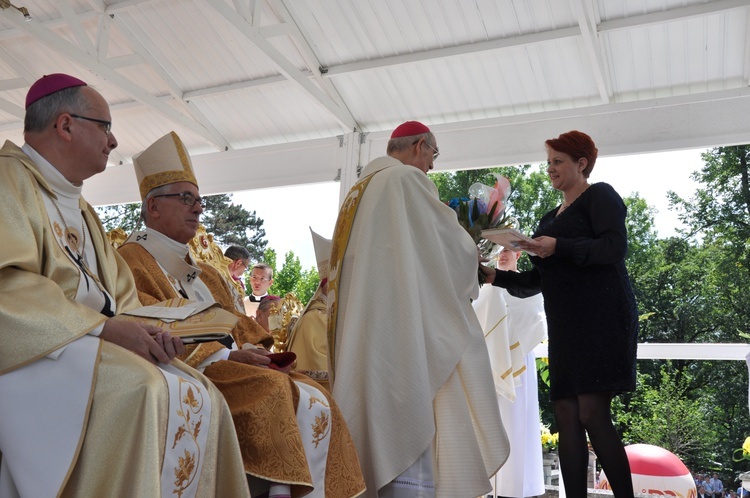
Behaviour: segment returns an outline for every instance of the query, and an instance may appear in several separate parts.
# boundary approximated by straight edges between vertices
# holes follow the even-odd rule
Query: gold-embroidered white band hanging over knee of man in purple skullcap
[[[185,378],[180,378],[180,408],[177,410],[177,416],[184,420],[184,423],[177,429],[172,443],[172,449],[177,446],[177,442],[187,436],[192,439],[195,445],[195,452],[191,453],[187,449],[183,456],[178,459],[178,465],[174,469],[175,489],[172,494],[178,497],[193,484],[197,477],[196,469],[199,467],[201,459],[201,447],[198,443],[198,434],[203,422],[203,391],[197,384],[190,382]],[[184,390],[186,389],[186,390]],[[183,391],[184,390],[184,391]],[[196,398],[195,391],[198,392],[199,398]],[[184,393],[184,394],[183,394]],[[197,420],[196,419],[197,416]]]

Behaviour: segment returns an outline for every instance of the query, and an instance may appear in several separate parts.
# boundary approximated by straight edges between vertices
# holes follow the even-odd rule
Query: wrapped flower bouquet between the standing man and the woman
[[[495,175],[493,187],[475,183],[469,187],[469,197],[453,198],[447,204],[456,211],[458,222],[471,235],[483,256],[488,256],[494,243],[482,238],[482,230],[490,228],[516,228],[517,221],[505,214],[510,182]]]

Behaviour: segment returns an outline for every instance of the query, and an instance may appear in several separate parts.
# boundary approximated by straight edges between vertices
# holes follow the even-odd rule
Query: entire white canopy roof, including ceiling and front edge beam
[[[0,0],[0,139],[43,74],[89,82],[120,146],[94,204],[138,200],[131,156],[175,130],[202,194],[330,181],[432,128],[437,169],[750,142],[750,0]],[[15,7],[25,7],[30,20]]]

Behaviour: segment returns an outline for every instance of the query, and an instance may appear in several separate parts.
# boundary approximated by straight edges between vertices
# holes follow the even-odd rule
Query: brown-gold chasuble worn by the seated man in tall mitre
[[[156,304],[179,297],[162,267],[152,254],[134,241],[135,238],[131,235],[130,243],[122,245],[118,252],[133,272],[143,304]],[[245,343],[273,344],[273,337],[255,320],[236,310],[227,282],[221,275],[209,265],[198,263],[197,267],[201,270],[198,278],[211,291],[213,299],[239,317],[232,332],[235,343],[240,347]],[[216,351],[223,346],[202,344],[189,352],[186,361],[193,365],[200,364],[212,354],[199,352],[207,347]],[[231,408],[248,474],[271,482],[290,484],[292,496],[301,496],[313,486],[310,466],[320,466],[320,462],[308,460],[305,442],[325,441],[328,443],[328,453],[322,462],[325,488],[316,489],[308,496],[345,498],[362,493],[364,480],[357,453],[338,406],[327,392],[322,391],[325,397],[319,399],[306,392],[300,393],[303,386],[298,387],[296,383],[315,389],[320,389],[319,385],[304,375],[287,375],[225,360],[212,363],[204,373],[224,394]],[[304,406],[299,403],[301,395],[308,400]],[[305,419],[304,412],[319,403],[330,407],[330,419],[323,417],[308,421],[302,427],[299,420]],[[311,439],[303,442],[303,434]]]

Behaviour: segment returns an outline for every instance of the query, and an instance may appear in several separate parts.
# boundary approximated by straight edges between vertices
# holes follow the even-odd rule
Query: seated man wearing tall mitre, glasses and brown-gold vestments
[[[190,256],[186,242],[195,235],[202,206],[179,137],[166,135],[133,162],[139,179],[143,178],[147,228],[131,234],[118,251],[133,271],[141,301],[156,304],[180,296],[215,301],[239,317],[232,350],[217,342],[204,343],[189,349],[185,361],[201,369],[226,397],[245,471],[252,476],[251,489],[263,492],[266,488],[254,486],[265,482],[289,485],[292,496],[360,494],[364,481],[359,461],[333,399],[304,375],[254,363],[257,357],[265,358],[264,348],[273,344],[273,338],[236,310],[218,271]],[[165,183],[149,183],[152,180]],[[249,349],[239,349],[243,347]],[[257,357],[241,354],[249,352]]]

